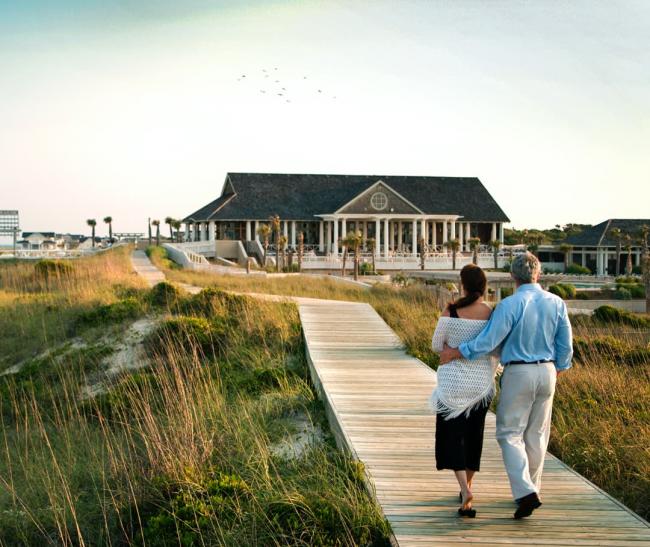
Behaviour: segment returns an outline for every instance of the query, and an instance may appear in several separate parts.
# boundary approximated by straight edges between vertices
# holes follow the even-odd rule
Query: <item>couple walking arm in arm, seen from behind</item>
[[[436,417],[436,467],[451,469],[460,485],[461,516],[474,517],[472,479],[479,471],[483,429],[503,364],[496,437],[501,446],[516,519],[530,516],[539,497],[551,428],[557,374],[571,366],[571,324],[565,303],[537,283],[535,255],[511,266],[515,293],[494,312],[483,301],[487,280],[478,266],[461,271],[463,296],[449,304],[433,335],[440,353],[431,397]]]

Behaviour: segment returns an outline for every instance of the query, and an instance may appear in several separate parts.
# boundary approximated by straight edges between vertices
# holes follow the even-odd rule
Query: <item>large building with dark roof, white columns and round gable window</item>
[[[478,237],[503,241],[508,217],[478,178],[228,173],[221,195],[188,215],[186,241],[259,241],[261,224],[278,215],[288,247],[297,235],[318,255],[338,256],[340,239],[359,231],[378,257],[461,251]],[[365,247],[365,245],[364,245]]]

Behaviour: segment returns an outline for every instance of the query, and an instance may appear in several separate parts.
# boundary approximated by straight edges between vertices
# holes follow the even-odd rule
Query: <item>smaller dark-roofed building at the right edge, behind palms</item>
[[[638,236],[644,225],[650,226],[650,219],[612,218],[569,237],[566,243],[573,247],[571,262],[589,268],[596,275],[614,275],[616,273],[616,239],[612,235],[612,230],[618,228],[623,234],[632,236],[632,265],[639,266],[643,249]],[[624,242],[621,244],[625,245]],[[621,251],[619,265],[621,273],[625,272],[627,254],[627,250]]]

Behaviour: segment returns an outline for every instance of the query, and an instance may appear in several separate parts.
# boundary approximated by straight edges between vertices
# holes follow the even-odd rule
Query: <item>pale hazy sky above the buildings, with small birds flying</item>
[[[476,176],[516,228],[648,218],[650,2],[0,0],[22,229],[146,232],[228,171]]]

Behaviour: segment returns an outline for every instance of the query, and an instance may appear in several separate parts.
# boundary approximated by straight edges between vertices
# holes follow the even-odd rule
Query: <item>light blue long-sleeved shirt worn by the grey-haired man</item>
[[[476,359],[501,346],[501,362],[553,361],[557,370],[571,367],[571,323],[564,301],[537,283],[521,285],[492,313],[481,333],[458,350]]]

